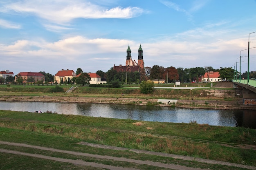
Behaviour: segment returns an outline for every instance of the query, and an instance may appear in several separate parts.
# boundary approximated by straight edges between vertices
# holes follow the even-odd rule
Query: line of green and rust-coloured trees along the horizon
[[[101,70],[97,71],[96,73],[101,77],[101,81],[107,81],[108,83],[120,82],[121,84],[139,84],[141,81],[149,79],[164,79],[166,83],[174,83],[176,81],[180,81],[182,83],[199,82],[200,77],[209,71],[219,72],[219,78],[227,81],[232,79],[239,79],[240,76],[239,72],[234,70],[232,67],[220,67],[219,69],[214,69],[211,66],[193,68],[175,68],[170,66],[164,68],[163,66],[154,65],[152,67],[145,67],[144,71],[141,73],[138,71],[117,72],[112,67],[106,73]],[[40,73],[45,76],[46,83],[54,82],[54,75],[45,73],[44,71],[40,71]],[[74,77],[73,79],[63,80],[62,84],[89,84],[90,76],[88,73],[84,73],[81,68],[77,68],[76,75],[79,75],[80,73],[82,73],[81,77]],[[18,77],[18,82],[22,82],[22,77],[19,77],[19,75],[16,75],[16,77]],[[251,71],[249,73],[249,78],[255,79],[256,71]],[[241,73],[241,79],[247,79],[247,71],[245,73]],[[6,79],[0,77],[0,84],[3,84],[4,82],[14,83],[14,77],[9,76]],[[33,83],[35,80],[33,77],[30,77],[27,79],[27,82]]]

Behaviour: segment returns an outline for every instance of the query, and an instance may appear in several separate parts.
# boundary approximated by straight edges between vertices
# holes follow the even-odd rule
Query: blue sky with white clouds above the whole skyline
[[[145,66],[233,67],[256,46],[256,0],[1,0],[0,70],[107,72],[143,49]],[[250,49],[256,71],[256,48]]]

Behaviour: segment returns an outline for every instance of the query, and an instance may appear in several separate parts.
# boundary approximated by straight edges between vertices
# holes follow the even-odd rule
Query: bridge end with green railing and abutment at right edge
[[[243,104],[256,105],[256,80],[234,79],[234,88],[243,88]]]

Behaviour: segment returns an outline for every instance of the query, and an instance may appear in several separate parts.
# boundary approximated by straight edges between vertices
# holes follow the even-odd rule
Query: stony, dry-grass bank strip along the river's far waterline
[[[243,101],[141,99],[125,97],[63,97],[63,96],[0,96],[0,101],[18,102],[76,102],[102,104],[134,104],[180,108],[245,109],[256,110],[256,106],[243,105]]]

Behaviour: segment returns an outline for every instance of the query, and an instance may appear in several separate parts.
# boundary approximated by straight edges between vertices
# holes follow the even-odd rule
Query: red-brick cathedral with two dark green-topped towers
[[[120,64],[119,66],[113,67],[114,70],[117,72],[142,72],[144,71],[144,60],[143,60],[143,50],[141,48],[141,45],[139,45],[139,50],[138,50],[138,61],[136,62],[135,60],[132,60],[132,51],[130,49],[130,45],[128,45],[128,49],[126,50],[126,65],[122,66]]]

